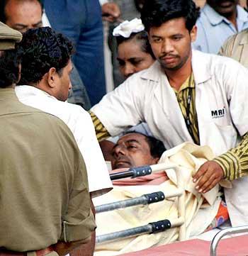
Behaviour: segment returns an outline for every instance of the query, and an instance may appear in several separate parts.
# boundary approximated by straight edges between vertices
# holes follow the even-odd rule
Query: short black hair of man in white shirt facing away
[[[52,67],[60,74],[74,53],[72,42],[48,27],[28,30],[16,48],[23,52],[19,84],[26,85],[40,82]]]

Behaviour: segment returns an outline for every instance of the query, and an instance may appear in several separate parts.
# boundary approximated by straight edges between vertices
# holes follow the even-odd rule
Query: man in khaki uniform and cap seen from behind
[[[19,41],[0,23],[0,255],[66,255],[96,227],[86,167],[59,118],[18,101]]]

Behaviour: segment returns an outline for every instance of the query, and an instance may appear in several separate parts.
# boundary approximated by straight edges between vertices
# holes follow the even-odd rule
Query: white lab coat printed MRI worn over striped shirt
[[[201,145],[220,155],[235,147],[248,131],[248,69],[230,58],[198,51],[193,51],[192,67]],[[152,134],[168,149],[193,142],[158,62],[127,79],[91,111],[111,135],[147,122]],[[233,226],[248,223],[247,181],[247,177],[238,179],[232,182],[232,189],[225,189]]]

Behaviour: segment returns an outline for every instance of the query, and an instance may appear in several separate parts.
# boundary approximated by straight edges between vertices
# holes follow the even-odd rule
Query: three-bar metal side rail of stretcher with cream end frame
[[[96,206],[96,213],[101,213],[103,211],[113,211],[117,208],[125,208],[130,206],[136,206],[138,204],[150,204],[150,202],[157,203],[164,199],[169,199],[171,197],[178,196],[178,218],[174,220],[158,220],[153,223],[147,223],[145,226],[140,226],[136,228],[130,228],[128,230],[120,230],[114,233],[108,233],[104,235],[96,236],[96,243],[106,243],[111,240],[117,240],[121,238],[132,237],[134,235],[141,235],[144,233],[158,233],[163,232],[169,228],[179,227],[179,240],[186,239],[186,226],[185,226],[185,191],[184,184],[181,179],[181,175],[179,175],[179,169],[176,165],[166,165],[166,164],[158,164],[158,165],[147,165],[144,167],[134,167],[128,169],[125,172],[118,172],[115,174],[111,174],[111,180],[123,179],[127,177],[135,178],[142,177],[154,172],[159,172],[166,169],[174,169],[176,172],[177,179],[177,187],[178,189],[174,191],[173,194],[164,194],[161,191],[157,193],[152,193],[148,195],[140,196],[136,199],[130,199],[125,201],[118,201],[113,204],[106,204],[101,206]]]

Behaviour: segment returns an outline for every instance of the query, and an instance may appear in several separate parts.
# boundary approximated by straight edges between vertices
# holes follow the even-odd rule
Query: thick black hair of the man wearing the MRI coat
[[[191,31],[200,16],[200,8],[193,0],[147,0],[141,10],[145,30],[159,27],[173,18],[185,18],[186,28]]]

